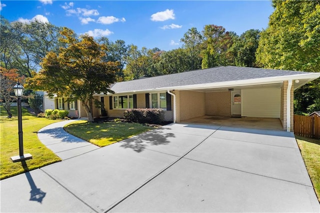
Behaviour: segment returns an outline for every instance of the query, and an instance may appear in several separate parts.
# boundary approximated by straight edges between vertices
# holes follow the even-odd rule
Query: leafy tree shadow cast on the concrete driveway
[[[120,141],[120,147],[132,148],[136,152],[143,151],[149,145],[166,145],[170,141],[168,137],[175,137],[173,133],[164,133],[160,129],[157,131],[147,131],[138,136]]]

